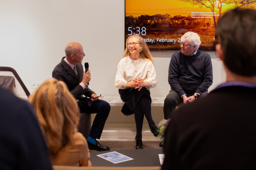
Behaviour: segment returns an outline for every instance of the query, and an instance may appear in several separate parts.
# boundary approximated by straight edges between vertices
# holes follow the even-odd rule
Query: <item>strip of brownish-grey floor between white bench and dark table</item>
[[[143,142],[144,149],[160,149],[160,142]],[[100,142],[100,144],[104,146],[108,146],[110,150],[131,150],[135,149],[135,141],[134,142]],[[97,152],[96,150],[90,150],[90,152]]]

